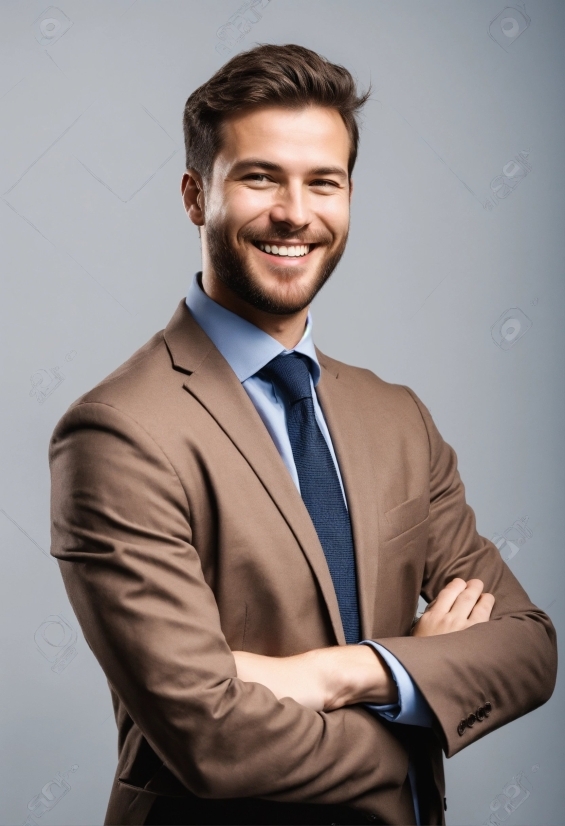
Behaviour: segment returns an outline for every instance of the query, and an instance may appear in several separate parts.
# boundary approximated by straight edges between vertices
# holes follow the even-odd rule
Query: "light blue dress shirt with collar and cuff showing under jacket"
[[[271,359],[275,358],[275,356],[278,356],[279,353],[291,353],[292,350],[285,349],[280,341],[277,341],[259,327],[256,327],[254,324],[251,324],[251,322],[236,313],[232,313],[216,301],[213,301],[202,289],[201,277],[202,274],[200,272],[196,273],[193,277],[186,297],[186,305],[194,319],[214,342],[242,383],[244,390],[253,402],[265,427],[269,431],[294,484],[300,491],[300,482],[286,427],[285,402],[282,396],[279,397],[277,395],[277,389],[271,381],[255,375],[257,371],[264,367]],[[343,493],[343,499],[347,507],[347,498],[345,496],[334,447],[315,392],[316,385],[320,379],[321,368],[312,340],[312,316],[310,312],[308,312],[304,335],[293,349],[297,353],[303,353],[308,356],[310,385],[316,420],[333,458]],[[361,644],[370,645],[381,654],[389,666],[398,687],[397,703],[387,703],[383,705],[367,703],[365,704],[366,707],[395,723],[430,726],[432,716],[428,703],[402,663],[379,643],[373,642],[372,640],[363,640]],[[412,765],[410,766],[410,781],[414,796],[416,819],[418,826],[420,826],[415,777]]]

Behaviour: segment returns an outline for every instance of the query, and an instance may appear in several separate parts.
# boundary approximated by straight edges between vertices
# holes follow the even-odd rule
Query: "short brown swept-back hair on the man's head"
[[[195,169],[205,182],[210,180],[214,159],[221,150],[222,120],[232,112],[269,105],[296,109],[318,105],[336,109],[343,118],[351,142],[351,177],[359,143],[356,113],[370,93],[369,86],[358,95],[347,69],[304,46],[255,46],[232,57],[186,101],[186,168]]]

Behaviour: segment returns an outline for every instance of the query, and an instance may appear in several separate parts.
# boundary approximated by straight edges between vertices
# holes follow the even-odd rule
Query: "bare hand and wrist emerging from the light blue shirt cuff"
[[[292,697],[315,711],[333,711],[355,703],[398,701],[388,665],[367,645],[317,648],[293,657],[232,653],[239,679],[261,683],[279,699]]]

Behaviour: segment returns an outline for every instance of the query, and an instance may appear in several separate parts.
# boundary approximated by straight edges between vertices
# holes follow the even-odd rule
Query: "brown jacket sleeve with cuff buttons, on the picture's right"
[[[378,639],[398,657],[435,718],[452,757],[551,697],[557,644],[550,618],[528,598],[492,542],[479,536],[453,449],[416,395],[429,439],[430,516],[421,595],[427,602],[455,577],[480,579],[495,597],[488,622],[432,637]]]

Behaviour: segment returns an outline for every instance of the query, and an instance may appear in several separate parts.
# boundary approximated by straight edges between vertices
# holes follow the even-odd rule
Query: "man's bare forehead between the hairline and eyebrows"
[[[336,109],[266,106],[238,112],[223,122],[217,160],[231,165],[246,156],[261,157],[293,167],[327,161],[347,170],[349,150],[349,134]]]

